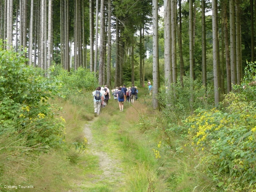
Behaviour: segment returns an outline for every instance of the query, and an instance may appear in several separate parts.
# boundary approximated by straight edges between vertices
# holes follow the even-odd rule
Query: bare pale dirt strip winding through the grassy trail
[[[89,124],[84,125],[84,135],[88,141],[88,152],[99,158],[99,168],[103,170],[103,174],[100,175],[94,182],[105,180],[109,182],[116,182],[116,185],[124,183],[124,174],[122,173],[122,168],[118,167],[120,160],[110,158],[110,155],[106,152],[100,150],[99,143],[95,142],[92,135],[92,130],[90,128],[93,121]]]

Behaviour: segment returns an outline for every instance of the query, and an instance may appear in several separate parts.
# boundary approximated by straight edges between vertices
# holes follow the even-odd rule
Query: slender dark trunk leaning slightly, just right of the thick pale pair
[[[184,61],[183,61],[183,52],[182,52],[182,16],[181,16],[181,0],[179,0],[179,30],[178,30],[178,43],[180,50],[180,83],[183,86],[183,76],[185,76],[184,71]]]

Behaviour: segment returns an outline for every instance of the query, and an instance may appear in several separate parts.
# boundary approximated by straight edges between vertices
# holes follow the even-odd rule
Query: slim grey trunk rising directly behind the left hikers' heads
[[[107,85],[111,87],[111,0],[108,0],[108,63]]]

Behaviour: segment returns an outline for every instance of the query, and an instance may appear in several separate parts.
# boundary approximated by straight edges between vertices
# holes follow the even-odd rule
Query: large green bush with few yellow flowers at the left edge
[[[0,135],[22,133],[25,146],[57,146],[63,124],[54,117],[59,109],[48,99],[58,94],[61,84],[38,75],[26,62],[22,54],[3,50],[0,42]]]

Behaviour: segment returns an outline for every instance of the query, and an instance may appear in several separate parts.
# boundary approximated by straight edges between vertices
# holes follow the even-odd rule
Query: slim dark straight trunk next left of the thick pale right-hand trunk
[[[206,31],[205,31],[205,0],[202,0],[202,80],[206,88]]]

